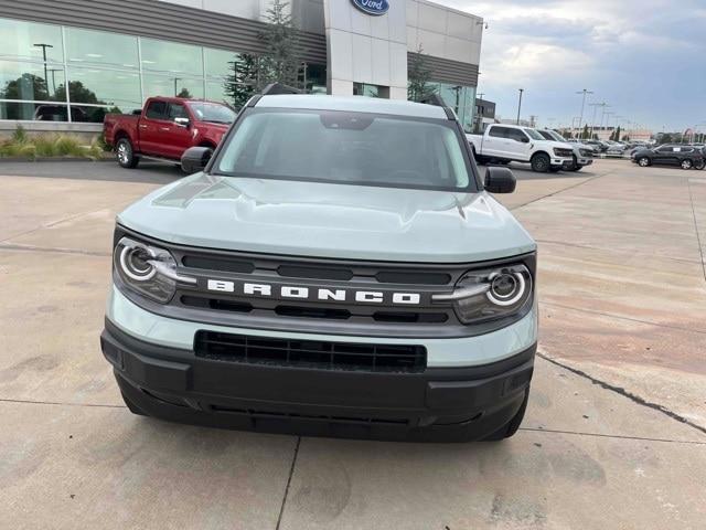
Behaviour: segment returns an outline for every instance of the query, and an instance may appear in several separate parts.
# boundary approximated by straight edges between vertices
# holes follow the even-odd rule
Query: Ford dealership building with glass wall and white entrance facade
[[[284,3],[284,2],[282,2]],[[150,96],[228,103],[225,84],[271,0],[0,0],[0,134],[100,130]],[[428,0],[289,0],[301,87],[407,98],[411,53],[470,129],[483,20]],[[68,87],[68,89],[67,89]]]

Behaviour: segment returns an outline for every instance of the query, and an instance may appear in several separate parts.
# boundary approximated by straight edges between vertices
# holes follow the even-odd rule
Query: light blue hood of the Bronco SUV
[[[150,193],[118,222],[176,244],[311,257],[462,263],[536,248],[485,192],[203,173]]]

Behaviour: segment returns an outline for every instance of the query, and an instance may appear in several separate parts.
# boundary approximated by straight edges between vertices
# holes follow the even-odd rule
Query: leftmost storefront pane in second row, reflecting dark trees
[[[51,63],[0,61],[0,99],[65,100],[64,68]]]

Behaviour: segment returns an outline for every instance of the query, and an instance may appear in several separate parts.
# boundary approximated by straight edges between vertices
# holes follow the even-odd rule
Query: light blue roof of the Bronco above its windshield
[[[278,94],[263,96],[257,108],[299,108],[307,110],[344,110],[349,113],[389,114],[416,118],[448,119],[443,107],[403,99],[365,96],[324,96],[311,94]]]

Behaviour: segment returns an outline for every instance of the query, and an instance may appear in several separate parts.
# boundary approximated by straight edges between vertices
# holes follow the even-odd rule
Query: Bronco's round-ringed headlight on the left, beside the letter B
[[[196,283],[176,273],[176,262],[168,251],[130,237],[116,245],[113,265],[127,287],[161,304],[172,299],[178,282]]]

